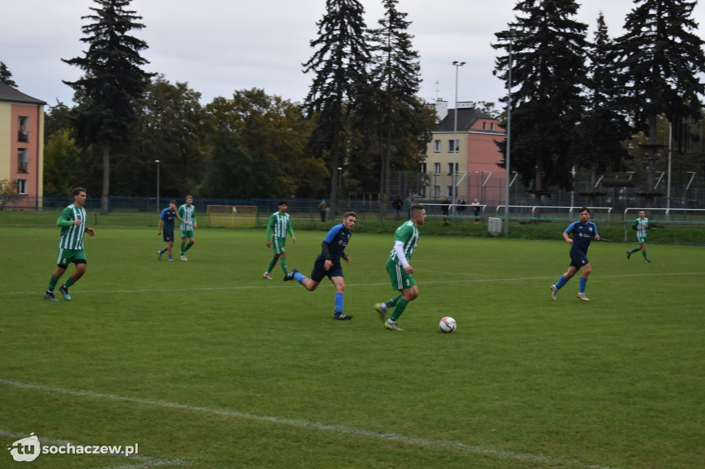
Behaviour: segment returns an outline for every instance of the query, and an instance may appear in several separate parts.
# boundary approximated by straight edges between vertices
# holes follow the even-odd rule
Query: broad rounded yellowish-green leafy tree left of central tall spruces
[[[249,89],[206,107],[212,132],[204,196],[313,196],[324,188],[330,173],[321,158],[307,156],[312,121],[298,105]]]

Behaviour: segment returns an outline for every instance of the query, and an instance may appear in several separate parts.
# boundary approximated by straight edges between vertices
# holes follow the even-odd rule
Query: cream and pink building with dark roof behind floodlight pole
[[[502,142],[506,132],[499,120],[478,111],[473,103],[460,102],[455,132],[455,109],[448,109],[447,101],[436,101],[436,113],[440,122],[426,152],[424,173],[430,180],[425,196],[436,200],[452,196],[455,135],[458,198],[462,196],[468,204],[474,199],[483,205],[503,204],[506,176],[497,165],[503,156],[495,141]]]

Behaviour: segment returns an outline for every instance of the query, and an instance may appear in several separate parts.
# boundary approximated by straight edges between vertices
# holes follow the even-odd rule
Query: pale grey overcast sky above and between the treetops
[[[381,0],[362,0],[365,20],[376,27]],[[505,93],[492,75],[494,32],[515,18],[515,0],[400,0],[408,13],[414,48],[421,58],[419,96],[455,102],[453,61],[465,61],[458,77],[458,101],[494,101]],[[61,58],[84,56],[81,16],[97,6],[92,0],[23,0],[3,2],[0,61],[18,89],[49,106],[59,100],[72,105],[73,90],[61,80],[76,80],[78,67]],[[145,29],[129,34],[145,40],[145,71],[161,73],[169,82],[188,82],[207,104],[215,96],[230,97],[238,89],[262,88],[291,101],[302,101],[312,77],[302,63],[312,55],[309,41],[325,13],[325,0],[133,0],[130,9],[142,16]],[[632,0],[585,0],[577,20],[589,26],[593,39],[602,11],[611,37],[620,35]],[[705,7],[695,7],[701,25]]]

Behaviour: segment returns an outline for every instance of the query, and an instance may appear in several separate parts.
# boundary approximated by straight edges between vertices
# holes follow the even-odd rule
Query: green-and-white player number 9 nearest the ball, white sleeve
[[[379,313],[379,317],[384,321],[384,327],[389,330],[403,330],[396,321],[404,312],[407,304],[419,296],[419,289],[416,286],[414,268],[409,265],[411,256],[416,250],[419,242],[419,225],[426,220],[426,209],[418,204],[412,204],[409,210],[410,220],[397,228],[394,232],[394,248],[389,253],[387,259],[387,273],[392,282],[392,288],[401,292],[400,295],[388,299],[384,303],[374,305],[374,310]],[[389,308],[393,311],[389,318],[386,317]]]

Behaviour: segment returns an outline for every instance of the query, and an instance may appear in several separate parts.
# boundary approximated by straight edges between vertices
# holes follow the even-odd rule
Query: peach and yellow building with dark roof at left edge
[[[46,104],[0,82],[0,181],[16,192],[8,208],[40,206]]]

